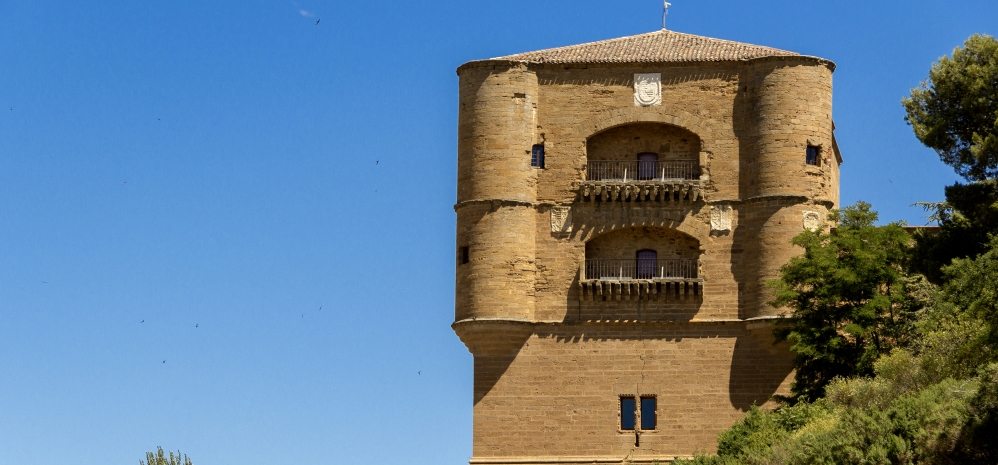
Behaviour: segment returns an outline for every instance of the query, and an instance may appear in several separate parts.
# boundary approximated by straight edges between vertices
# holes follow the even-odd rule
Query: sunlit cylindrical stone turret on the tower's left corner
[[[539,143],[537,76],[522,65],[458,70],[455,320],[530,320],[534,312]]]

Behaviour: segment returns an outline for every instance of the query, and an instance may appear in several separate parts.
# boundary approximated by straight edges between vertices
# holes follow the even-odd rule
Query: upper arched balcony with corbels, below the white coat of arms
[[[586,140],[588,201],[685,201],[702,198],[700,138],[662,123],[631,123]]]

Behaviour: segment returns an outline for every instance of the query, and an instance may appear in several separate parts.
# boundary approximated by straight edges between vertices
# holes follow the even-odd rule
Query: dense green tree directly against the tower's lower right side
[[[905,273],[911,238],[899,224],[875,226],[859,202],[832,213],[838,227],[794,238],[804,254],[781,269],[776,306],[793,314],[777,330],[797,368],[793,395],[812,401],[836,377],[867,376],[873,363],[911,336],[917,280]]]

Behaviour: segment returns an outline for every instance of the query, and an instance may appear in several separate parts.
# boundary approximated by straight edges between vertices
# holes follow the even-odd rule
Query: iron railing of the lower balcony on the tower
[[[585,279],[696,279],[699,263],[689,258],[592,258]]]

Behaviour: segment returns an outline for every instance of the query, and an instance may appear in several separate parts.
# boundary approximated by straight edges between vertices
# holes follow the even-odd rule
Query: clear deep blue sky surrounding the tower
[[[998,3],[673,3],[834,60],[843,202],[924,223],[899,100]],[[454,69],[660,8],[0,0],[0,465],[465,463]]]

